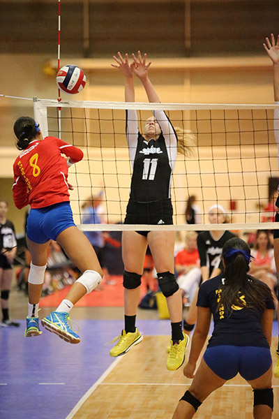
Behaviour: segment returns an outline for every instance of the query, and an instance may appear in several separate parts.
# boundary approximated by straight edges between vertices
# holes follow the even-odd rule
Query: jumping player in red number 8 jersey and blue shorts
[[[27,220],[27,247],[32,261],[28,277],[29,310],[25,335],[42,332],[38,305],[43,289],[47,247],[56,240],[82,272],[56,311],[43,318],[42,325],[71,344],[80,337],[70,327],[70,309],[86,293],[100,284],[102,270],[89,240],[75,226],[70,208],[68,166],[82,160],[82,150],[59,138],[46,137],[30,117],[20,117],[14,125],[17,148],[22,150],[13,164],[13,199],[19,209],[31,206]],[[66,154],[68,161],[61,153]]]

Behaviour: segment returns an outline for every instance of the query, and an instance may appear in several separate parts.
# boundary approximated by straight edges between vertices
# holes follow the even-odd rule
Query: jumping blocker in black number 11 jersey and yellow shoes
[[[160,102],[148,77],[146,54],[137,58],[133,54],[133,62],[129,64],[128,54],[125,59],[114,57],[118,68],[125,76],[125,100],[135,101],[133,76],[140,79],[149,102]],[[137,112],[126,112],[126,135],[133,166],[126,224],[172,224],[172,203],[170,186],[176,155],[181,145],[184,154],[188,145],[194,145],[193,135],[181,133],[173,128],[163,110],[153,111],[147,119],[144,133],[137,126]],[[187,143],[186,143],[187,142]],[[182,302],[179,286],[174,277],[174,232],[172,231],[124,231],[122,235],[122,254],[124,262],[123,286],[125,329],[119,341],[110,351],[111,356],[126,353],[131,346],[142,341],[142,335],[135,327],[137,305],[140,300],[140,284],[143,272],[144,256],[149,244],[156,271],[158,284],[167,297],[167,306],[172,324],[171,350],[167,360],[167,369],[177,369],[183,364],[188,336],[182,331]]]

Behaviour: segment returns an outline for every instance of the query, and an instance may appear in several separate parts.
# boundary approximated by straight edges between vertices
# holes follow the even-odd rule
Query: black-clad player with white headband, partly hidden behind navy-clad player
[[[222,224],[225,223],[226,213],[222,205],[212,205],[209,208],[209,223]],[[223,265],[221,261],[221,253],[223,246],[227,240],[234,237],[230,231],[216,230],[203,231],[197,236],[197,249],[199,251],[199,259],[202,271],[202,282],[207,279],[216,277],[220,274]],[[198,291],[197,291],[198,292]],[[190,335],[191,330],[195,327],[197,321],[197,293],[191,302],[187,316],[184,319],[183,328]]]

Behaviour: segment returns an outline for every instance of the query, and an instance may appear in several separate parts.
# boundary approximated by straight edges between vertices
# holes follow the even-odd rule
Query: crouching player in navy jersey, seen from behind
[[[224,273],[204,282],[197,298],[197,325],[184,375],[194,378],[173,419],[193,418],[211,392],[236,374],[254,392],[253,417],[269,419],[273,411],[271,331],[274,303],[266,284],[248,275],[250,248],[234,237],[222,252]],[[214,329],[195,374],[213,315]]]

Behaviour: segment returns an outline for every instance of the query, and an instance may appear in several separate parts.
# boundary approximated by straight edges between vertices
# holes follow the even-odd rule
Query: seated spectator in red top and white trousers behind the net
[[[177,253],[174,267],[182,296],[187,296],[188,302],[192,302],[201,279],[197,233],[190,232],[186,235],[186,247]]]

